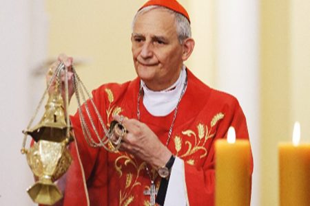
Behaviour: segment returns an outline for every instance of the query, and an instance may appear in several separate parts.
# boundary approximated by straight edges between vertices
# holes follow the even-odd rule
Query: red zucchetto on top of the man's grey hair
[[[191,22],[189,20],[189,15],[185,10],[185,8],[182,5],[180,5],[180,3],[178,3],[178,1],[176,0],[149,0],[138,11],[142,10],[143,8],[149,5],[160,5],[165,8],[168,8],[169,10],[173,10],[174,12],[178,12],[183,16],[185,16],[186,19],[189,21],[189,23]]]

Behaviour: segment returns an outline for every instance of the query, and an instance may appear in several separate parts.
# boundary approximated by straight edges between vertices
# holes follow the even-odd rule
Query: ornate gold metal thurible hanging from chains
[[[70,124],[59,91],[61,71],[64,68],[63,64],[59,65],[43,94],[44,98],[52,81],[56,78],[55,91],[48,98],[41,121],[30,128],[43,98],[39,103],[36,114],[30,120],[28,128],[23,131],[25,137],[21,153],[26,155],[28,165],[37,179],[37,182],[27,192],[34,203],[43,205],[54,205],[63,197],[54,181],[65,174],[72,161],[70,152],[67,149],[67,145],[71,140]],[[68,82],[65,82],[65,84],[68,84]],[[65,86],[66,93],[68,93],[68,85]],[[68,106],[68,101],[66,101],[66,106]],[[34,144],[30,149],[25,149],[25,141],[28,135],[32,137]]]

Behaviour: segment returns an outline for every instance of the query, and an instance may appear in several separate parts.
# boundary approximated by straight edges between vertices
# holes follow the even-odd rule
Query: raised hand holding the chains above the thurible
[[[72,64],[73,64],[73,58],[70,56],[67,56],[65,54],[59,54],[58,59],[50,65],[50,68],[48,69],[48,73],[46,74],[46,82],[49,83],[50,79],[52,78],[53,73],[55,72],[58,65],[63,62],[65,65],[65,68],[68,69],[68,94],[69,94],[69,102],[72,98],[72,95],[74,94],[74,87],[73,87],[73,72],[72,72]],[[48,90],[49,94],[54,93],[56,86],[56,79],[52,82],[50,89]],[[65,100],[65,76],[64,73],[61,76],[61,96],[63,97],[63,100]]]

